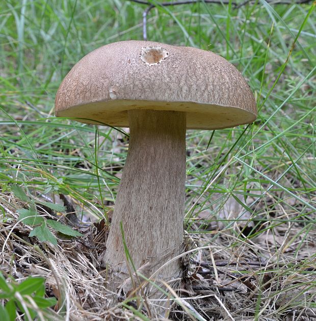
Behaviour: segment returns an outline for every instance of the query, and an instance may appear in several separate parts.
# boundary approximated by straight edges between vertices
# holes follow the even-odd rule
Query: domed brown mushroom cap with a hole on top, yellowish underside
[[[150,41],[121,41],[88,53],[60,85],[55,114],[128,127],[127,110],[179,111],[187,128],[251,123],[257,110],[241,73],[211,51]]]

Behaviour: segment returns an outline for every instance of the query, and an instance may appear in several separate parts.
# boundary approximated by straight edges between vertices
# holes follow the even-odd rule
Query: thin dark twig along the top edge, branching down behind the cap
[[[147,15],[149,11],[152,8],[155,8],[157,6],[159,7],[167,7],[167,6],[178,6],[178,5],[189,5],[189,4],[196,4],[196,3],[205,3],[205,4],[218,4],[218,5],[228,5],[229,0],[180,0],[176,2],[161,2],[157,4],[152,4],[148,1],[144,0],[129,0],[131,2],[136,2],[140,5],[146,5],[148,6],[144,12],[143,12],[143,38],[146,41],[147,40]],[[231,6],[233,9],[240,9],[243,6],[246,6],[249,3],[254,2],[255,0],[245,0],[241,4],[237,4],[235,2],[231,2]],[[267,3],[273,4],[273,5],[293,5],[293,4],[307,4],[309,2],[312,2],[313,0],[297,0],[296,2],[293,2],[292,0],[266,0]]]

